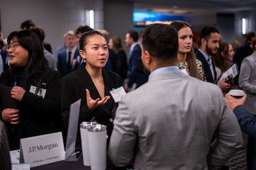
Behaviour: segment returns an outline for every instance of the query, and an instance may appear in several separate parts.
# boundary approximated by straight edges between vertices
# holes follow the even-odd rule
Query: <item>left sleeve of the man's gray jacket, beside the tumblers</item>
[[[127,166],[134,159],[137,135],[130,108],[121,100],[116,110],[114,129],[108,148],[108,155],[115,166]]]

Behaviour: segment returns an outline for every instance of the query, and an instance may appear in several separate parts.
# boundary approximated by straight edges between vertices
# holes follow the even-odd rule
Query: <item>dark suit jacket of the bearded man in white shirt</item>
[[[211,68],[210,68],[210,66],[209,66],[209,64],[208,64],[208,62],[207,62],[207,60],[204,58],[204,55],[202,54],[202,52],[200,52],[200,50],[198,50],[198,51],[196,52],[196,58],[202,62],[203,69],[204,69],[204,73],[205,73],[205,77],[206,77],[206,81],[207,81],[207,82],[212,82],[212,83],[214,83],[214,81],[215,81],[216,78],[217,78],[217,77],[216,77],[216,76],[217,76],[217,73],[216,73],[214,64],[212,63],[215,79],[213,79],[213,77],[212,77],[212,72],[211,72]]]

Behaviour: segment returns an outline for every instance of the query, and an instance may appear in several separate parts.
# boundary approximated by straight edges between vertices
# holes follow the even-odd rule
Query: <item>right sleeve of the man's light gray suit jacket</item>
[[[243,146],[243,138],[235,114],[224,105],[220,125],[214,134],[216,139],[209,148],[207,164],[209,169],[219,169],[228,158]]]

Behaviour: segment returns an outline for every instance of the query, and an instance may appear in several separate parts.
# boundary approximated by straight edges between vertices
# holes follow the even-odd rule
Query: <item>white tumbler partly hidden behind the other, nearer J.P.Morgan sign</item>
[[[92,121],[83,121],[80,124],[80,134],[81,134],[81,144],[82,144],[82,151],[83,151],[84,166],[91,166],[87,127],[89,125],[96,125],[96,124],[97,124],[97,122],[92,122]]]

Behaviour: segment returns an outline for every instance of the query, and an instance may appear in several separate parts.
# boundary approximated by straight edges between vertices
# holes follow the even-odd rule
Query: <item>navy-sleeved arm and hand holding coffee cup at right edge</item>
[[[247,146],[247,168],[256,169],[256,117],[244,107],[246,95],[234,98],[226,94],[225,99],[228,107],[236,114],[241,130],[253,139],[252,144]]]

